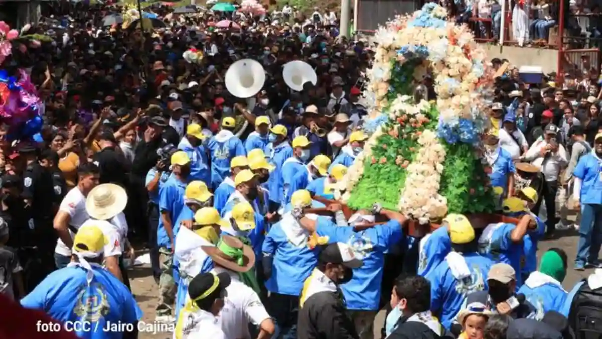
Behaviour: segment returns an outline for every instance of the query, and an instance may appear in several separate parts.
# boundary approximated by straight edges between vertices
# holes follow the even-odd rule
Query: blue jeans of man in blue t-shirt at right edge
[[[582,204],[576,267],[598,261],[602,245],[602,204]]]

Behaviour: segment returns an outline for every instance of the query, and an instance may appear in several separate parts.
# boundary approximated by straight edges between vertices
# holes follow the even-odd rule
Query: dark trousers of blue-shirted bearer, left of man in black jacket
[[[278,333],[273,338],[296,339],[297,315],[299,314],[299,297],[288,294],[270,293],[265,304],[270,315],[276,320]]]

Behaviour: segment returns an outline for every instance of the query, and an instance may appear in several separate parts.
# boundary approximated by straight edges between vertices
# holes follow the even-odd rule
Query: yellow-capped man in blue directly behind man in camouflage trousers
[[[201,180],[211,185],[211,169],[203,146],[203,128],[199,124],[190,124],[186,128],[186,136],[178,144],[178,149],[186,152],[190,158],[190,180]]]

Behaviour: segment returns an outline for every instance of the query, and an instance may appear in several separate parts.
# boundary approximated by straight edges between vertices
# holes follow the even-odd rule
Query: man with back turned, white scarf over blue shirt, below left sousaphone
[[[233,133],[235,127],[235,119],[226,116],[222,119],[222,130],[207,142],[207,148],[211,154],[211,185],[209,187],[213,189],[216,189],[228,178],[228,173],[232,169],[230,166],[232,159],[247,154],[243,142]],[[219,210],[217,208],[217,211]]]

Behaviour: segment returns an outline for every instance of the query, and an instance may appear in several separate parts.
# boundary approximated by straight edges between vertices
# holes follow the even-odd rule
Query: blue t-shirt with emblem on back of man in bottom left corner
[[[54,271],[21,299],[21,305],[40,309],[62,323],[85,322],[89,330],[76,332],[79,338],[120,339],[122,332],[104,331],[107,323],[134,324],[142,318],[142,311],[113,274],[95,264],[92,270],[90,285],[82,267]]]

